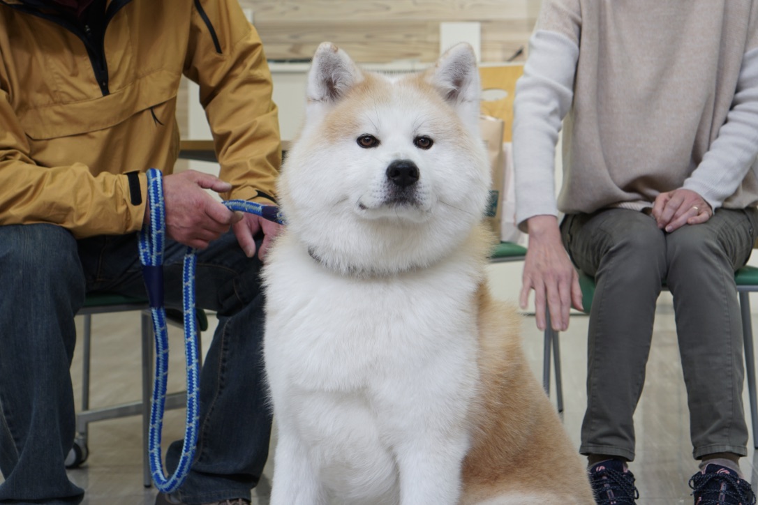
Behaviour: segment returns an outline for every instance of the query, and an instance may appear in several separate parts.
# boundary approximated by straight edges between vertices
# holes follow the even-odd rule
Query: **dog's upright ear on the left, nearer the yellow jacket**
[[[345,51],[331,42],[321,42],[308,74],[308,99],[334,103],[363,80],[363,74]]]

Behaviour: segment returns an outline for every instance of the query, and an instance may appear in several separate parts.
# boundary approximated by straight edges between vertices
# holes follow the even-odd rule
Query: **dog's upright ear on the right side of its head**
[[[481,84],[471,45],[461,42],[445,51],[428,70],[427,79],[459,114],[479,117]]]

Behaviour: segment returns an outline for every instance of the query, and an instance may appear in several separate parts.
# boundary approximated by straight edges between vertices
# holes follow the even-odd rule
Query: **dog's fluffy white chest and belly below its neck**
[[[397,460],[412,447],[448,445],[444,466],[468,449],[477,286],[460,267],[353,279],[290,237],[277,244],[265,360],[280,434],[349,503],[396,503]]]

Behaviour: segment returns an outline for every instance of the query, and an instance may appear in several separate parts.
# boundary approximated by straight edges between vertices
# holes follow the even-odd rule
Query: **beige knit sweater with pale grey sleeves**
[[[758,0],[544,0],[514,108],[520,224],[681,187],[754,205]]]

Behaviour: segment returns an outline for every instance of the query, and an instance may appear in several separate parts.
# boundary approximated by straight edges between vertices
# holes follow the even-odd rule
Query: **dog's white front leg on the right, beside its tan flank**
[[[467,449],[465,433],[425,433],[398,447],[400,505],[456,505]]]

